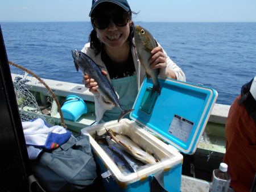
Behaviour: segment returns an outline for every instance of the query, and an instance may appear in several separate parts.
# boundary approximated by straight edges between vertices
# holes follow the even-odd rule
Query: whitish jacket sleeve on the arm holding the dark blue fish
[[[98,65],[104,65],[100,59],[100,55],[95,56],[92,49],[90,49],[90,44],[86,43],[84,48],[82,48],[81,52],[88,55],[92,60],[96,62]],[[104,66],[105,67],[105,66]],[[106,70],[106,69],[105,69]],[[109,78],[109,77],[108,77]],[[93,94],[94,95],[94,104],[95,104],[95,114],[97,123],[100,122],[106,110],[112,110],[114,108],[113,103],[106,103],[101,94]]]

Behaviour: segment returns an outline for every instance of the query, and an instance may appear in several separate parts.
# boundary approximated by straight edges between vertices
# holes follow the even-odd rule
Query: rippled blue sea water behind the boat
[[[81,83],[71,50],[81,49],[89,22],[0,23],[10,61],[41,78]],[[217,103],[231,105],[241,86],[256,76],[256,23],[142,22],[187,82],[218,91]]]

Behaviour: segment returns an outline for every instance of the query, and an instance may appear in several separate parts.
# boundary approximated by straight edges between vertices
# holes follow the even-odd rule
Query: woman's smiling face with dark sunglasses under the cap
[[[127,43],[131,20],[127,14],[123,13],[127,12],[119,7],[104,7],[104,10],[100,10],[94,18],[101,23],[101,26],[104,26],[103,29],[100,29],[102,27],[97,28],[97,24],[94,22],[98,38],[109,48],[121,48]]]

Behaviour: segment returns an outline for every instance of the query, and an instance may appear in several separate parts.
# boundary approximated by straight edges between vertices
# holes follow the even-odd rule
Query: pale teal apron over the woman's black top
[[[115,91],[119,95],[119,102],[123,110],[129,110],[133,107],[133,103],[138,94],[137,75],[123,77],[110,80]],[[121,110],[119,107],[114,107],[112,110],[106,110],[101,122],[118,119]],[[129,118],[130,114],[123,118]]]

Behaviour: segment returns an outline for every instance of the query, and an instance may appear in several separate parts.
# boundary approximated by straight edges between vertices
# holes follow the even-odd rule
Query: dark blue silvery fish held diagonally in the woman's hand
[[[75,50],[72,51],[72,56],[77,72],[80,69],[82,73],[88,74],[93,78],[98,83],[98,92],[106,99],[106,101],[112,102],[116,107],[120,108],[121,113],[118,117],[118,122],[123,118],[123,116],[134,110],[123,110],[113,85],[110,83],[108,78],[102,74],[100,66],[98,66],[88,55]]]

